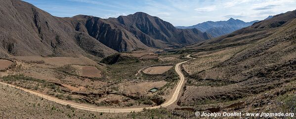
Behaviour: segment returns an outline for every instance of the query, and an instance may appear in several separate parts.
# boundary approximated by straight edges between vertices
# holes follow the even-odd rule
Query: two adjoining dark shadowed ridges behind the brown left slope
[[[178,30],[170,23],[143,12],[109,19],[85,15],[61,19],[119,52],[178,47],[211,38],[198,30]]]

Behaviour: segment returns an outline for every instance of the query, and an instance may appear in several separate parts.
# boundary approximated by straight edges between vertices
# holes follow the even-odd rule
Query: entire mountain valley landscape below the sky
[[[174,27],[0,1],[2,118],[211,119],[196,113],[296,113],[295,102],[296,10]]]

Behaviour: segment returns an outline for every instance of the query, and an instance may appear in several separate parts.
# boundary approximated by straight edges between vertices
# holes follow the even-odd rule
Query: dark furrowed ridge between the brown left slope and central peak
[[[113,24],[112,21],[83,15],[74,16],[71,19],[68,18],[65,22],[69,21],[75,30],[85,32],[106,46],[119,52],[149,48],[140,42],[133,34],[119,25]]]

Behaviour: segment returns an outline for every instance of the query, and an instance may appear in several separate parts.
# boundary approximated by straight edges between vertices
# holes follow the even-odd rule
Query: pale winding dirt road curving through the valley
[[[191,58],[191,57],[190,57],[190,55],[188,55],[185,58]],[[190,60],[192,60],[192,59],[194,59],[194,58],[191,58]],[[71,107],[82,109],[82,110],[88,110],[88,111],[94,111],[94,112],[106,112],[106,113],[129,113],[129,112],[133,112],[133,111],[134,112],[140,112],[140,111],[143,111],[143,108],[156,109],[156,108],[160,108],[160,107],[168,107],[169,105],[171,105],[171,104],[173,104],[174,102],[177,101],[178,95],[179,95],[179,93],[180,93],[180,91],[182,89],[182,86],[184,84],[184,81],[185,81],[185,77],[184,77],[184,75],[183,75],[183,73],[181,71],[180,65],[187,62],[187,61],[189,61],[189,60],[177,63],[175,65],[175,71],[179,75],[180,81],[178,82],[178,84],[177,84],[177,86],[176,86],[176,88],[175,88],[175,90],[174,90],[174,92],[172,94],[172,97],[169,100],[167,100],[166,102],[164,102],[162,105],[153,106],[153,107],[151,107],[151,106],[130,107],[130,108],[97,107],[97,106],[91,106],[91,105],[87,105],[87,104],[80,104],[80,103],[67,101],[67,100],[61,100],[61,99],[58,99],[58,98],[55,98],[55,97],[52,97],[52,96],[49,96],[49,95],[42,94],[40,92],[36,92],[36,91],[29,90],[29,89],[16,87],[16,86],[13,86],[13,85],[10,85],[10,84],[7,84],[7,83],[3,83],[3,82],[0,82],[0,84],[8,85],[10,87],[15,87],[16,89],[21,89],[21,90],[23,90],[25,92],[40,96],[43,99],[47,99],[49,101],[53,101],[53,102],[56,102],[56,103],[59,103],[59,104],[62,104],[62,105],[71,105]]]

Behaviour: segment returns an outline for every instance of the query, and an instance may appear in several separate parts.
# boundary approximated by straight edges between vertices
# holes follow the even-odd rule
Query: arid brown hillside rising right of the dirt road
[[[196,59],[183,65],[189,79],[179,105],[197,108],[213,104],[211,108],[223,107],[230,101],[244,105],[247,99],[279,87],[286,87],[287,93],[293,93],[295,18],[296,11],[290,11],[186,47],[182,52],[191,53]],[[264,109],[264,106],[252,106]]]

